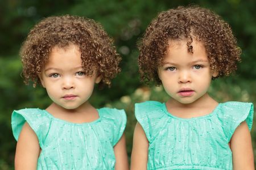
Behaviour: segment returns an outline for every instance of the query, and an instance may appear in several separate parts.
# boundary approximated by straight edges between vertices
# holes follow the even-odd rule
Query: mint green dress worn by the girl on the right
[[[220,103],[206,116],[179,118],[165,103],[135,104],[135,116],[149,142],[147,169],[232,169],[228,145],[237,126],[253,124],[253,104]]]

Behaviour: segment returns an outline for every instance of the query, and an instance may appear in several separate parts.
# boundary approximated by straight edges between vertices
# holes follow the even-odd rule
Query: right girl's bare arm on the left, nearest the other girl
[[[133,150],[131,152],[131,170],[147,169],[148,140],[141,124],[137,122],[133,135]]]

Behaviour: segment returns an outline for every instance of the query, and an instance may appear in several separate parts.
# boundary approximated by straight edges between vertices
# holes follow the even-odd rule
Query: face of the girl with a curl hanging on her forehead
[[[190,104],[207,94],[212,76],[205,47],[193,40],[193,53],[187,41],[170,40],[158,75],[164,90],[181,104]]]

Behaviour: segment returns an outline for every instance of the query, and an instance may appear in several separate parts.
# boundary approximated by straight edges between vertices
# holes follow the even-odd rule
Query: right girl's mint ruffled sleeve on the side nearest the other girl
[[[170,121],[163,111],[163,103],[158,101],[145,101],[135,104],[135,117],[141,124],[148,142],[154,141],[163,125]]]

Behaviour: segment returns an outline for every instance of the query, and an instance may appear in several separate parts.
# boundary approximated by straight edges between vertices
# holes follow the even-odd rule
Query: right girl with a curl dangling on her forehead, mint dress
[[[139,50],[142,79],[162,84],[170,99],[135,104],[131,169],[254,169],[253,104],[207,93],[240,61],[229,25],[207,9],[177,7],[152,20]]]

